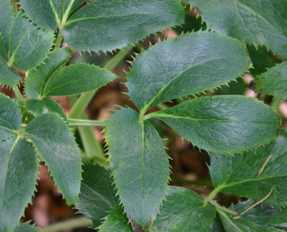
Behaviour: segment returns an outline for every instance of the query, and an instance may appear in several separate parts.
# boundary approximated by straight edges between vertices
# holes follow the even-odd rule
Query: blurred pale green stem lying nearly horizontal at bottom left
[[[68,219],[62,222],[57,222],[52,225],[48,225],[42,228],[43,232],[56,232],[65,229],[74,229],[74,228],[81,228],[81,227],[89,227],[93,224],[91,219],[85,217],[78,217],[73,219]]]

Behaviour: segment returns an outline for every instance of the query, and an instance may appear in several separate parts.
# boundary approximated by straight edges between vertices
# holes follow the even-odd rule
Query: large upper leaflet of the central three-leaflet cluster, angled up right
[[[198,31],[140,53],[127,73],[126,87],[145,113],[162,102],[226,85],[247,71],[250,63],[238,40]]]

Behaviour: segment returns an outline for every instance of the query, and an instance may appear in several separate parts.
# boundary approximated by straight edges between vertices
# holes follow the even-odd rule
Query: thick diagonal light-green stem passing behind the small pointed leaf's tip
[[[112,71],[120,61],[126,56],[126,54],[133,48],[132,45],[128,45],[122,50],[120,50],[105,66],[104,68],[108,71]],[[88,93],[82,94],[78,101],[75,103],[70,111],[69,118],[79,118],[80,115],[85,111],[90,101],[93,99],[97,90],[90,91]]]

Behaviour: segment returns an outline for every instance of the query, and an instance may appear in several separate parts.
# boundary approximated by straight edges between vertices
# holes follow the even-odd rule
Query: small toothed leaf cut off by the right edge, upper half
[[[253,80],[255,92],[287,100],[287,62],[277,64]]]

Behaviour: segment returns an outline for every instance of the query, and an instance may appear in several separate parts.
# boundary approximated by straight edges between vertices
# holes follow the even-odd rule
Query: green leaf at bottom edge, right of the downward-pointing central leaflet
[[[203,198],[182,187],[169,186],[166,201],[151,231],[207,231],[216,216],[216,208],[204,206]]]

